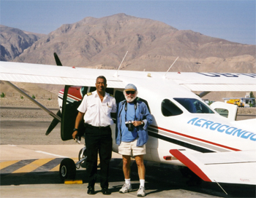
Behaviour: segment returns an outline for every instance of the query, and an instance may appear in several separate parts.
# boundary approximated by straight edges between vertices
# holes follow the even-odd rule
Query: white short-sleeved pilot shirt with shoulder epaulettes
[[[107,127],[113,124],[110,113],[116,113],[116,99],[105,92],[105,97],[101,101],[97,90],[91,95],[85,95],[78,111],[86,113],[83,116],[84,122],[94,127]]]

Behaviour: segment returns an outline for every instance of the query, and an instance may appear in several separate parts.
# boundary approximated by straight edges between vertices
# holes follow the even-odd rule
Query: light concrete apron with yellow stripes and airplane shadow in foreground
[[[78,162],[78,152],[83,145],[1,145],[0,146],[0,197],[106,197],[101,192],[99,179],[95,184],[97,194],[86,194],[88,178],[86,169],[76,171],[76,181],[81,184],[65,184],[59,178],[59,164],[69,157]],[[200,186],[187,186],[178,167],[147,162],[146,197],[255,197],[255,186],[202,182]],[[133,190],[127,194],[118,191],[124,184],[122,160],[113,153],[110,161],[109,189],[107,197],[137,197],[139,187],[136,163],[131,165]],[[100,172],[100,167],[98,168]]]

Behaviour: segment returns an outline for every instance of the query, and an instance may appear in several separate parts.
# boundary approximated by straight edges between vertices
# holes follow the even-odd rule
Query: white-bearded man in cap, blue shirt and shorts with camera
[[[118,153],[123,158],[123,171],[125,183],[120,189],[120,193],[132,191],[130,180],[131,156],[135,157],[140,178],[140,188],[137,191],[138,197],[145,194],[145,173],[143,155],[146,154],[146,142],[148,140],[148,126],[152,123],[152,116],[148,107],[140,100],[136,100],[138,95],[137,87],[134,84],[127,84],[124,88],[126,100],[118,104],[116,119],[116,143]]]

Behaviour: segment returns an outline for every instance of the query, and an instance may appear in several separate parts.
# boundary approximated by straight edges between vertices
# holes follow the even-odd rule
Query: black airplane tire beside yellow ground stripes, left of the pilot
[[[61,161],[61,165],[59,166],[59,176],[62,181],[65,179],[75,179],[75,171],[75,162],[72,159],[65,158]]]

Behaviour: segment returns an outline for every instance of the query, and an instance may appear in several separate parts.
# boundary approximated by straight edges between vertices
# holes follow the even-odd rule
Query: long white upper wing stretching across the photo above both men
[[[75,68],[67,66],[49,66],[31,63],[0,62],[0,80],[10,82],[31,82],[42,84],[69,84],[77,86],[95,85],[95,79],[104,75],[108,79],[108,87],[124,88],[124,79],[146,79],[158,82],[155,86],[165,86],[166,79],[180,84],[191,91],[242,91],[256,90],[256,74],[219,74],[192,72],[118,71],[92,68]],[[152,86],[152,85],[151,85]]]

